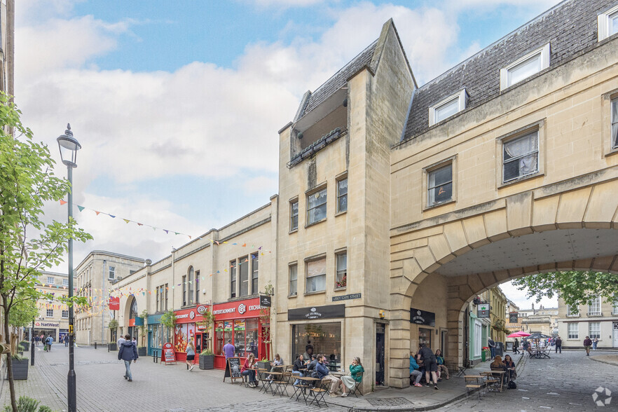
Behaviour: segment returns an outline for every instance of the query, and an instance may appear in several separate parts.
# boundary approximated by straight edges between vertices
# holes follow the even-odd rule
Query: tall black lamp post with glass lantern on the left
[[[73,137],[71,132],[71,125],[67,124],[67,130],[64,130],[64,135],[58,136],[58,148],[60,149],[60,158],[62,163],[67,165],[67,173],[69,175],[69,224],[71,217],[73,217],[73,168],[77,167],[77,151],[81,149],[81,144]],[[69,301],[73,297],[73,238],[69,238]],[[67,398],[69,401],[69,412],[77,411],[77,393],[76,393],[76,380],[75,380],[75,368],[74,368],[74,352],[73,346],[75,341],[74,334],[74,315],[73,304],[69,304],[69,374],[67,376]]]

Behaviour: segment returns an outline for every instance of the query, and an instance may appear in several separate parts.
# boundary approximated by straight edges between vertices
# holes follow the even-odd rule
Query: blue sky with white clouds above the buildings
[[[74,204],[85,209],[74,214],[94,240],[75,245],[77,266],[93,249],[158,261],[266,205],[277,130],[389,18],[423,85],[558,1],[15,3],[22,122],[49,145],[57,175],[67,123],[82,145]],[[66,208],[46,205],[46,219],[66,219]],[[502,289],[530,307],[524,291]]]

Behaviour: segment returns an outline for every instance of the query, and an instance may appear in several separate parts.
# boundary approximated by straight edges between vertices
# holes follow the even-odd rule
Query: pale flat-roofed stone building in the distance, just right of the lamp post
[[[78,345],[109,343],[107,325],[112,314],[107,305],[112,285],[143,266],[144,259],[101,250],[93,250],[76,266],[75,296],[84,296],[90,304],[90,308],[75,310],[75,342]]]

